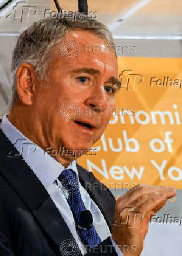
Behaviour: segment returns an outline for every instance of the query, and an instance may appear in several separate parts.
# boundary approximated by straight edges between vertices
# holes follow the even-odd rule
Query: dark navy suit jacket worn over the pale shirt
[[[0,256],[80,255],[74,252],[77,244],[42,183],[21,156],[11,157],[18,151],[1,129],[0,144]],[[111,230],[115,198],[92,173],[79,165],[77,169],[82,186],[87,187]],[[99,184],[97,189],[94,183]],[[76,248],[72,252],[65,247],[69,242]],[[117,255],[111,250],[110,238],[87,255],[101,254]]]

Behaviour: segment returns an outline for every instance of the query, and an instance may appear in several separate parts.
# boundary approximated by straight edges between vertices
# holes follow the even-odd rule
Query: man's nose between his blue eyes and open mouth
[[[94,88],[85,100],[85,105],[95,112],[104,112],[110,106],[104,86],[99,89]]]

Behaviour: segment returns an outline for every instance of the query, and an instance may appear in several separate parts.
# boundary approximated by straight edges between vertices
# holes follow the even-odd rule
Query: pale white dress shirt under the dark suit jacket
[[[42,148],[20,133],[20,131],[16,129],[11,122],[9,122],[6,115],[2,119],[0,129],[5,133],[5,136],[9,139],[9,141],[16,147],[16,149],[22,155],[23,160],[26,161],[30,169],[32,169],[32,171],[36,174],[37,178],[39,178],[44,188],[49,193],[83,255],[86,253],[85,247],[75,229],[73,214],[66,200],[66,191],[58,180],[58,177],[64,169],[72,169],[75,171],[78,178],[81,198],[84,202],[85,208],[91,211],[95,230],[97,231],[101,240],[104,241],[107,237],[111,236],[104,216],[94,201],[91,200],[87,191],[80,184],[75,160],[65,168],[56,159],[47,154]],[[112,244],[114,245],[114,248],[116,248],[118,255],[122,256],[122,253],[115,244],[114,240],[112,240]]]

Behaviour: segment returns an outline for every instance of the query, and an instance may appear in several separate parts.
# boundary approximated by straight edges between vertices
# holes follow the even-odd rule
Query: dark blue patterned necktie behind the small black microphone
[[[80,223],[80,213],[81,211],[85,211],[87,209],[85,208],[84,202],[81,199],[76,174],[71,169],[64,170],[60,174],[59,180],[63,187],[66,188],[66,190],[68,191],[67,201],[73,213],[75,223]],[[90,248],[102,242],[93,224],[90,230],[83,230],[81,228],[77,228],[77,231],[83,244],[90,245]]]

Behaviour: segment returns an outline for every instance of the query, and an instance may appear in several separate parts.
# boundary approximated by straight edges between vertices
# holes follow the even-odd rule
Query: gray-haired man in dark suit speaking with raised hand
[[[44,19],[19,36],[0,124],[0,255],[138,256],[150,216],[176,194],[139,185],[115,201],[75,161],[114,110],[118,66],[107,45],[111,33],[88,19]],[[134,228],[128,208],[142,214]]]

